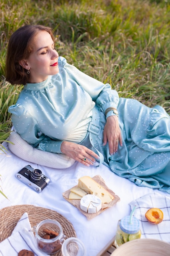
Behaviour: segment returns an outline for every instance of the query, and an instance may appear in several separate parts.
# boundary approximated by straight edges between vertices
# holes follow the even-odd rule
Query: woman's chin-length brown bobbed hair
[[[33,52],[34,38],[40,31],[47,31],[55,41],[50,27],[42,25],[26,25],[17,29],[9,39],[6,59],[6,80],[12,85],[25,85],[29,82],[29,74],[19,61],[29,58]]]

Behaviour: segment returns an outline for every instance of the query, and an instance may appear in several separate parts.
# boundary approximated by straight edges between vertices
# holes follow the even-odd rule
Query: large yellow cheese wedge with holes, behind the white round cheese
[[[88,194],[97,195],[102,203],[109,203],[114,199],[113,195],[89,176],[79,178],[78,187]]]

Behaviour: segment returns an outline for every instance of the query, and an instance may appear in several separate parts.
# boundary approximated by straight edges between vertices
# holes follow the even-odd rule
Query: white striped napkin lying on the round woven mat
[[[47,255],[40,252],[35,243],[27,213],[22,215],[11,236],[0,243],[0,256],[18,256],[22,249],[32,251],[35,256]]]

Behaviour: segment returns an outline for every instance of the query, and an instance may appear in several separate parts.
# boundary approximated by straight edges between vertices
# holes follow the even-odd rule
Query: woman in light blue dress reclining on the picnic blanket
[[[119,99],[109,84],[68,64],[49,27],[28,25],[12,34],[6,78],[24,85],[9,112],[29,144],[86,166],[97,160],[139,186],[164,189],[151,176],[170,162],[170,116],[161,106]]]

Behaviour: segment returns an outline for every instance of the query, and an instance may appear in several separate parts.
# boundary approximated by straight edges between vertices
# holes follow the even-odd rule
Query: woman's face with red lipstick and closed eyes
[[[49,75],[59,72],[58,53],[54,49],[51,35],[46,31],[40,31],[34,39],[34,49],[26,64],[30,71],[30,83],[45,81]]]

